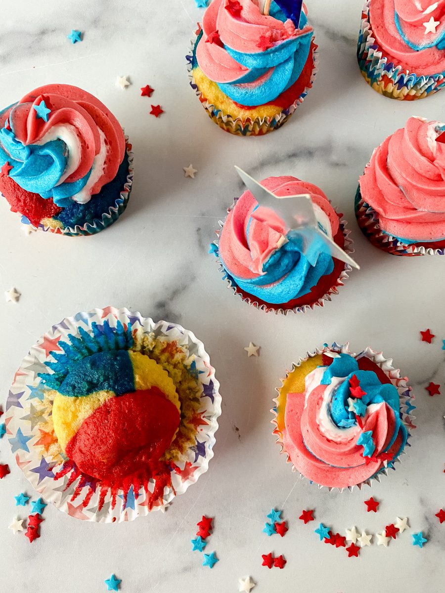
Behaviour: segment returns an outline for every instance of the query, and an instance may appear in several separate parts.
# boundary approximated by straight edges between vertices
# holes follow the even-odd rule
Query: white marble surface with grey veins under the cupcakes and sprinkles
[[[445,586],[445,525],[434,513],[445,506],[445,258],[399,259],[370,246],[355,224],[353,199],[374,146],[419,114],[445,119],[444,97],[398,103],[380,97],[361,78],[355,60],[360,0],[308,2],[320,45],[319,76],[297,114],[265,138],[226,135],[206,117],[189,88],[185,53],[202,11],[193,0],[20,0],[2,11],[0,103],[7,106],[31,88],[66,82],[96,94],[125,126],[134,145],[134,192],[125,215],[93,238],[38,233],[26,237],[19,219],[0,200],[0,293],[15,286],[18,304],[0,299],[0,401],[15,369],[53,323],[79,310],[113,304],[166,318],[191,329],[211,354],[221,382],[223,410],[215,457],[208,473],[165,515],[127,524],[86,524],[48,507],[42,537],[31,546],[7,529],[14,495],[31,489],[15,467],[8,442],[0,461],[11,474],[0,482],[0,588],[9,593],[106,591],[111,573],[121,591],[230,593],[252,575],[255,593],[438,593]],[[71,28],[85,31],[76,45]],[[116,87],[128,74],[132,86]],[[139,87],[155,88],[152,100]],[[445,91],[443,91],[445,93]],[[159,119],[148,115],[160,103]],[[195,180],[182,167],[195,165]],[[256,177],[295,174],[316,183],[349,220],[362,266],[324,309],[275,317],[253,310],[225,289],[207,254],[217,221],[239,195],[233,165]],[[3,301],[3,302],[2,302]],[[437,334],[433,345],[419,330]],[[252,340],[260,358],[247,359]],[[362,492],[329,493],[300,481],[278,454],[271,434],[271,399],[279,378],[307,349],[349,340],[393,356],[417,396],[418,429],[409,456],[382,483]],[[443,395],[428,397],[428,381]],[[367,514],[363,500],[381,501]],[[284,538],[261,533],[272,506],[284,509]],[[317,541],[316,523],[297,517],[315,508],[317,522],[343,531],[373,532],[399,517],[411,529],[388,549],[364,549],[359,559]],[[220,562],[202,568],[190,538],[202,514],[215,517],[208,551]],[[22,515],[23,516],[23,515]],[[422,530],[428,544],[411,545]],[[261,554],[284,554],[284,570],[261,566]]]

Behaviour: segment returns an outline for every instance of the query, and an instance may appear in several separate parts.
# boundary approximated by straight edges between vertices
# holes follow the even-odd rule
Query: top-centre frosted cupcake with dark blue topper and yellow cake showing
[[[266,2],[263,14],[259,0],[212,0],[206,9],[187,68],[204,109],[226,132],[275,130],[311,88],[317,46],[297,4]]]

